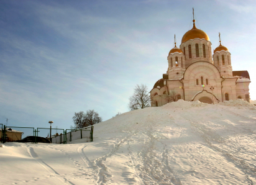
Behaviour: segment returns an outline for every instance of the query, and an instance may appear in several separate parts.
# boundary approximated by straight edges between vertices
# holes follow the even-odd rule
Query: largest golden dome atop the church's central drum
[[[196,20],[193,20],[193,22],[196,22]],[[193,24],[193,28],[191,30],[188,30],[188,32],[186,32],[186,34],[183,35],[181,43],[194,38],[204,38],[205,40],[210,40],[208,35],[203,30],[196,28],[195,24]]]

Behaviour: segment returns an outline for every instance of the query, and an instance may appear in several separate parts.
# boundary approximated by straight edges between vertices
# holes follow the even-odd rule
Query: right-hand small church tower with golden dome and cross
[[[213,64],[218,68],[221,76],[230,77],[232,74],[231,53],[221,45],[221,34],[219,33],[219,46],[213,52]]]

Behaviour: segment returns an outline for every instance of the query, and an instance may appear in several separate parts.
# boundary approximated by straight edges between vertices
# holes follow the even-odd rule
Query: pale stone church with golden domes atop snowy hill
[[[208,35],[196,28],[186,32],[180,48],[172,48],[167,56],[168,70],[150,91],[152,107],[167,104],[167,96],[176,99],[216,103],[231,99],[250,101],[248,71],[232,71],[231,53],[221,45],[212,54]]]

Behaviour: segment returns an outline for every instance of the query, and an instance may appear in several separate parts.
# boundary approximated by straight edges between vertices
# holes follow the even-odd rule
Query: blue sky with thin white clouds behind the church
[[[149,91],[192,27],[248,70],[256,99],[256,1],[1,1],[0,124],[68,129],[75,112],[110,119],[129,111],[136,84]]]

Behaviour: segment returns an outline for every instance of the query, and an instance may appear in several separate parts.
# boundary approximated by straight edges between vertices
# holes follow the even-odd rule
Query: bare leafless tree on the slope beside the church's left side
[[[134,94],[129,97],[129,109],[131,111],[136,109],[144,109],[150,106],[150,96],[147,91],[147,86],[144,84],[136,85],[134,88]]]

